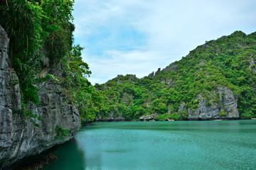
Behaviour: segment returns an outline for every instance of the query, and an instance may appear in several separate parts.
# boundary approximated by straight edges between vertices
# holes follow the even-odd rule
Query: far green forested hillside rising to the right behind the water
[[[92,114],[107,118],[111,113],[129,120],[156,114],[156,120],[186,120],[204,107],[215,109],[215,118],[231,118],[228,115],[237,110],[240,118],[252,118],[256,115],[255,60],[256,33],[235,31],[196,47],[148,77],[118,75],[96,84]],[[230,101],[233,111],[228,111]]]

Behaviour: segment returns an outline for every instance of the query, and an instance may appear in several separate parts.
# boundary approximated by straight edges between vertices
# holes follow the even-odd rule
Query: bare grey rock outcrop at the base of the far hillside
[[[218,91],[214,91],[214,98],[218,102],[207,102],[206,98],[200,94],[196,98],[199,101],[198,108],[191,110],[188,108],[189,120],[208,120],[208,119],[237,119],[239,118],[237,99],[227,87],[218,87]],[[218,95],[217,95],[218,94]],[[208,106],[210,103],[210,106]],[[220,116],[220,111],[225,111],[225,116]],[[186,111],[185,103],[181,103],[178,111]]]

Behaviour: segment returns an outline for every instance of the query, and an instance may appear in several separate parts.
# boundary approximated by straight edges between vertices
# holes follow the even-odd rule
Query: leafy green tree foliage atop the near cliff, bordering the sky
[[[73,0],[41,1],[44,13],[42,28],[44,35],[47,35],[45,46],[51,64],[61,62],[71,50],[72,33],[75,30],[73,23],[70,23],[70,20],[73,20],[73,4]]]

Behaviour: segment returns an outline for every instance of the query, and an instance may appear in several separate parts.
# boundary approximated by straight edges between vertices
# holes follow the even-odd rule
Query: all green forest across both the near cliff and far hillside
[[[241,31],[210,40],[196,47],[180,61],[163,70],[138,79],[135,75],[118,75],[105,84],[92,86],[91,72],[82,61],[82,47],[73,45],[73,0],[6,0],[0,1],[0,25],[9,42],[9,69],[18,75],[22,114],[35,123],[41,119],[28,109],[38,104],[39,82],[55,81],[63,86],[68,103],[78,106],[82,123],[110,113],[128,120],[156,114],[156,120],[188,119],[188,110],[198,108],[198,95],[206,106],[218,103],[213,91],[226,87],[238,101],[240,118],[256,113],[255,72],[256,33]],[[41,62],[49,60],[50,68]],[[166,65],[168,65],[166,63]],[[61,77],[55,72],[61,72]],[[183,103],[183,111],[180,111]],[[225,117],[225,110],[220,115]]]

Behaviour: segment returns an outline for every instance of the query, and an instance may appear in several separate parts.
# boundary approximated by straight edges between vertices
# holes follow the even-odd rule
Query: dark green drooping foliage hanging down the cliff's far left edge
[[[0,24],[10,38],[9,57],[20,81],[23,103],[38,104],[34,77],[41,71],[42,53],[38,50],[43,45],[41,6],[36,1],[1,1],[0,11]]]

